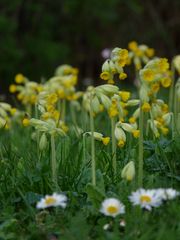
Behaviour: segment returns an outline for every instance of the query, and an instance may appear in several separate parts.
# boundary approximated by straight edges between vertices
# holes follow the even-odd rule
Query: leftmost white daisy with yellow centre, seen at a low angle
[[[63,194],[53,193],[53,195],[46,195],[36,205],[37,208],[48,208],[61,206],[65,208],[67,205],[67,197]]]

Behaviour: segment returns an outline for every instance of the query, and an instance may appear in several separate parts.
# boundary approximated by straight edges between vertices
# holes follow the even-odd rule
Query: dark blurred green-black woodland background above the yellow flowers
[[[0,0],[1,92],[22,72],[48,78],[62,63],[97,78],[103,48],[131,40],[180,51],[180,0]]]

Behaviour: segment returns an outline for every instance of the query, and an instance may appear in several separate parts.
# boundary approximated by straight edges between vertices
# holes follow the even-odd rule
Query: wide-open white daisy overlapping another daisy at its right
[[[162,203],[162,198],[157,194],[156,190],[145,190],[142,188],[132,192],[129,199],[133,205],[140,205],[141,208],[149,211],[152,207],[159,207]]]

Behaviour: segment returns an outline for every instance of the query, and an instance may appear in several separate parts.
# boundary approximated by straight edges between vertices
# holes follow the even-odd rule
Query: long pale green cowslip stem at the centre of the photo
[[[95,159],[94,116],[93,116],[93,110],[92,110],[92,94],[90,96],[90,129],[91,129],[92,184],[96,186],[96,159]]]

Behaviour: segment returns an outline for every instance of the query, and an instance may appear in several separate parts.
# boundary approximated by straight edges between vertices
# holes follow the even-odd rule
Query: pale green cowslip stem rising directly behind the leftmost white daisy
[[[57,162],[56,162],[56,146],[54,135],[51,134],[51,169],[52,169],[52,180],[57,189]]]

